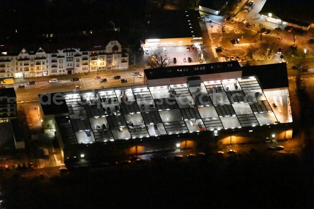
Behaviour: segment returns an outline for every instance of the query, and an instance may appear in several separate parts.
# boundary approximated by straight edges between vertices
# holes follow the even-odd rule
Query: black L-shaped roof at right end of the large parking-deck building
[[[286,63],[241,67],[242,77],[256,76],[263,89],[289,87]]]

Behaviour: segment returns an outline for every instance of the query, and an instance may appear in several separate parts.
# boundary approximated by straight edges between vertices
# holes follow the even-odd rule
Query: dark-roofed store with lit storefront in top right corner
[[[283,7],[279,5],[284,5]],[[259,12],[262,18],[274,24],[308,30],[314,27],[314,2],[267,0]]]

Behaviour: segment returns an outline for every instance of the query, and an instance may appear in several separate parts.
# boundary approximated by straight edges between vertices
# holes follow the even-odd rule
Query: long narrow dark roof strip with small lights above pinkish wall
[[[144,73],[148,80],[153,80],[160,78],[177,78],[235,71],[241,71],[238,61],[216,62],[201,65],[173,66],[165,67],[160,70],[145,69]]]

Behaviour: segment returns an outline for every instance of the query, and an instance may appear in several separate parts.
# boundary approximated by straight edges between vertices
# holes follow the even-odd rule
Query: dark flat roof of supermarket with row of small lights
[[[200,14],[195,10],[165,10],[155,12],[152,14],[152,19],[149,21],[148,30],[144,34],[143,40],[187,38],[192,37],[192,35],[203,37],[198,18],[200,18]]]

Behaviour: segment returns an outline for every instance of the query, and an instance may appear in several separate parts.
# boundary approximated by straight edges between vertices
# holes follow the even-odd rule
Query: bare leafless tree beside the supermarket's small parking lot
[[[150,51],[150,56],[147,60],[147,65],[152,68],[161,69],[170,64],[169,57],[160,51],[158,48],[155,48]]]

